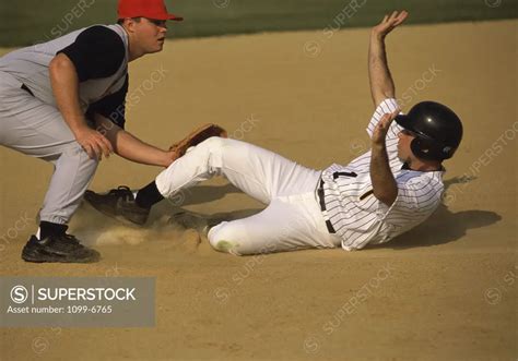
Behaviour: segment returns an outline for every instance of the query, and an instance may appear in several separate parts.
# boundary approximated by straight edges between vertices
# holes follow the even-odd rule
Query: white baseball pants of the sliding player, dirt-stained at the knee
[[[211,137],[162,171],[156,186],[170,197],[216,175],[268,206],[213,227],[209,241],[214,249],[244,255],[340,246],[316,198],[320,172],[248,143]]]

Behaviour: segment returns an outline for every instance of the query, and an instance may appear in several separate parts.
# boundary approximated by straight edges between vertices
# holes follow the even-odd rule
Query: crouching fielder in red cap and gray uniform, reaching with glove
[[[161,51],[169,14],[163,0],[119,0],[118,22],[72,32],[0,58],[0,144],[55,167],[39,212],[39,228],[22,251],[28,262],[95,262],[98,252],[67,234],[97,165],[110,153],[168,167],[196,141],[168,151],[125,127],[128,63]]]

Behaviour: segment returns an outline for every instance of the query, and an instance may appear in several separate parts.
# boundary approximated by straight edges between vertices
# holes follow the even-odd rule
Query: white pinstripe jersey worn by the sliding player
[[[368,124],[368,135],[372,136],[385,113],[396,109],[396,99],[381,101]],[[428,172],[402,169],[403,163],[398,158],[401,129],[393,121],[386,139],[390,169],[398,183],[398,196],[390,207],[373,194],[370,151],[348,166],[333,164],[322,171],[325,216],[342,238],[342,248],[346,251],[391,240],[428,218],[440,203],[444,169]]]

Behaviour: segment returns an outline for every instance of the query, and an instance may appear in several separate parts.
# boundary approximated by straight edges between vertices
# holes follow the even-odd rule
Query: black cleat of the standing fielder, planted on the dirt
[[[71,234],[51,234],[43,240],[36,236],[25,244],[22,258],[26,262],[60,262],[60,263],[94,263],[99,261],[101,254],[82,245]]]

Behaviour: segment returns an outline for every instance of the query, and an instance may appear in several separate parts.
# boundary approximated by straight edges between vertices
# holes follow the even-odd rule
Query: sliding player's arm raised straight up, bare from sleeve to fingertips
[[[392,76],[387,64],[385,51],[385,37],[409,15],[407,11],[392,12],[385,15],[381,23],[373,27],[370,32],[370,45],[368,48],[368,76],[370,82],[370,95],[376,108],[384,99],[393,98],[396,88]]]

